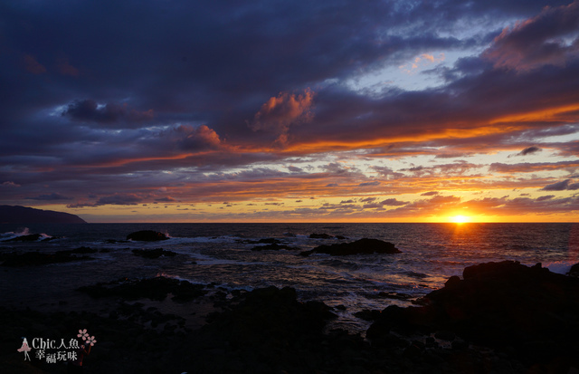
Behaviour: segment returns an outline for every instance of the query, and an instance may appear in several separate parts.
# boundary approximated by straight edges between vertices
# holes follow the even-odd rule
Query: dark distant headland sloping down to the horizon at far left
[[[0,224],[86,224],[80,216],[27,206],[0,206]]]

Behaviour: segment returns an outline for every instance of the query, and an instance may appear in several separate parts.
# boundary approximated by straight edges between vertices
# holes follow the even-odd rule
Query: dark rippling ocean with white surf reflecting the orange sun
[[[155,230],[170,236],[161,242],[127,241],[128,234]],[[18,235],[43,234],[50,241],[7,242]],[[341,235],[327,239],[310,234]],[[276,238],[295,249],[253,251],[254,242]],[[391,242],[401,254],[330,256],[300,252],[318,245],[375,238]],[[289,286],[302,301],[338,307],[333,323],[365,331],[363,310],[411,305],[443,287],[452,275],[473,264],[515,260],[542,263],[566,273],[579,263],[579,224],[86,224],[0,225],[0,252],[56,252],[79,247],[98,252],[92,260],[64,264],[0,267],[0,299],[6,306],[81,305],[90,309],[80,286],[121,277],[163,275],[211,284],[231,292]],[[132,249],[163,248],[173,257],[147,259]],[[47,300],[49,302],[47,302]],[[73,301],[76,300],[75,304]],[[80,304],[79,304],[80,301]]]

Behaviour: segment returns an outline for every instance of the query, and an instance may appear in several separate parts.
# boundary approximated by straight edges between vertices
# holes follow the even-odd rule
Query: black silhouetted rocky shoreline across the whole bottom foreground
[[[579,279],[540,264],[467,267],[419,305],[368,311],[365,336],[327,329],[335,314],[295,290],[226,292],[164,277],[84,287],[112,300],[106,312],[0,308],[3,373],[63,373],[64,363],[24,361],[24,336],[98,339],[86,373],[550,373],[579,369]],[[135,302],[128,302],[134,300]],[[179,303],[187,313],[147,301]],[[157,305],[158,306],[158,305]],[[207,306],[209,306],[207,308]],[[204,312],[201,312],[205,307]],[[195,314],[194,314],[195,313]],[[188,315],[186,315],[188,314]],[[204,319],[202,326],[187,322]],[[206,322],[205,322],[206,321]],[[5,368],[5,369],[4,369]]]

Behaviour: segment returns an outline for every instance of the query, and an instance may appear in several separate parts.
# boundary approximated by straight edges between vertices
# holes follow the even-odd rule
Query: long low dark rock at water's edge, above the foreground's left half
[[[172,293],[174,295],[173,300],[176,302],[188,302],[206,293],[201,284],[163,276],[141,280],[123,278],[115,282],[83,286],[77,291],[85,292],[94,298],[117,296],[125,300],[147,298],[157,301],[165,300],[167,294]]]

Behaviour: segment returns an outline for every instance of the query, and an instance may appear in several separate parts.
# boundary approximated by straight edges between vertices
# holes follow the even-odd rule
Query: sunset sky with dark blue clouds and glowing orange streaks
[[[579,0],[0,0],[0,205],[579,222]]]

